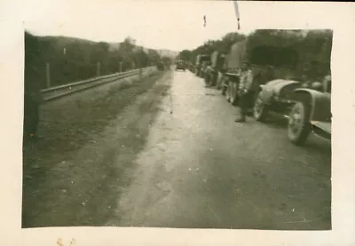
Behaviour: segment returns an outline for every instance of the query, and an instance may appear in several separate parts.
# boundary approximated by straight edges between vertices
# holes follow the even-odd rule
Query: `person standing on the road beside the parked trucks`
[[[246,115],[248,110],[248,102],[251,99],[251,88],[253,84],[253,73],[250,69],[248,61],[243,61],[241,64],[241,75],[239,83],[239,107],[240,115],[235,122],[243,123],[246,121]]]

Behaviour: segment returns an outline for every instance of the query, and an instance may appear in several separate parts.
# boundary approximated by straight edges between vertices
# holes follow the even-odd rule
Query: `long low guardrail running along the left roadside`
[[[153,67],[145,67],[142,68],[142,73],[145,71],[152,69]],[[51,101],[53,99],[60,99],[67,95],[73,94],[79,91],[85,91],[91,89],[93,87],[97,87],[106,83],[114,82],[119,79],[127,78],[132,75],[139,75],[140,69],[134,69],[130,71],[126,71],[123,73],[116,73],[113,75],[103,75],[75,83],[67,83],[55,87],[51,87],[48,89],[41,90],[43,102]]]

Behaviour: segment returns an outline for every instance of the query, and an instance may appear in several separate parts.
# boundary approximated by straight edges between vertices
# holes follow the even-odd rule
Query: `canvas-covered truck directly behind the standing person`
[[[296,76],[298,53],[289,47],[274,46],[272,42],[246,38],[232,45],[225,60],[225,80],[223,83],[226,99],[233,105],[238,102],[238,84],[241,63],[246,60],[251,65],[254,76],[250,107],[254,106],[260,85],[275,78],[298,79]]]

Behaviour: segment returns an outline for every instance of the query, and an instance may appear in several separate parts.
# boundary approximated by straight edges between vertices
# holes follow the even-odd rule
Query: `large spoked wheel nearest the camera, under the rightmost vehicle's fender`
[[[288,139],[295,145],[303,145],[311,132],[309,121],[311,108],[297,102],[288,117]]]

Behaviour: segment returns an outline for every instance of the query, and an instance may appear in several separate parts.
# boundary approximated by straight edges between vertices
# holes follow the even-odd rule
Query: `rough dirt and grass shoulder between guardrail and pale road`
[[[170,74],[43,105],[39,139],[23,147],[22,227],[106,221],[118,187],[130,184],[131,161],[145,145]]]

